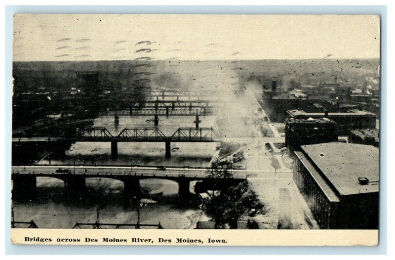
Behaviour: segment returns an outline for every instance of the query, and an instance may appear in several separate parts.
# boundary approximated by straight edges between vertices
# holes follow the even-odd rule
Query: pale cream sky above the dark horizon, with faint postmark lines
[[[14,61],[379,57],[375,15],[14,15]]]

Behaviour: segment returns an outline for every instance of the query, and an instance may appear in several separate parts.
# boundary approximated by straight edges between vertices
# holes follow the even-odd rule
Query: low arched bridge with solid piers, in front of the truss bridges
[[[36,189],[37,177],[61,179],[65,188],[72,192],[86,189],[86,178],[113,178],[124,183],[124,193],[128,198],[138,197],[140,179],[168,179],[178,183],[181,198],[190,195],[190,182],[202,181],[203,186],[225,187],[237,185],[247,177],[246,172],[236,171],[229,178],[213,178],[210,169],[158,169],[153,167],[105,167],[105,166],[12,166],[13,195],[32,194]]]

